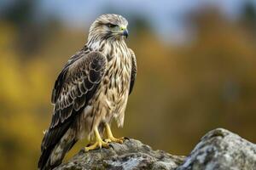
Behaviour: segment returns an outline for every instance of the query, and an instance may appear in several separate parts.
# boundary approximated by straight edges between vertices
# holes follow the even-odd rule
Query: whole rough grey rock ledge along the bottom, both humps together
[[[152,150],[135,139],[112,145],[113,149],[80,150],[73,159],[55,170],[256,170],[256,145],[223,128],[207,133],[187,158]]]

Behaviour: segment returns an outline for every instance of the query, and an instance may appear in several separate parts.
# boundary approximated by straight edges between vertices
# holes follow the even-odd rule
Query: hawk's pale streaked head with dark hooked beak
[[[102,14],[90,26],[89,39],[120,40],[128,37],[128,21],[119,14]]]

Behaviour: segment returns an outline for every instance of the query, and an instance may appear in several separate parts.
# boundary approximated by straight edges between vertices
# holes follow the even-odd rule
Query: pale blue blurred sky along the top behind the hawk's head
[[[2,0],[15,3],[17,0]],[[230,20],[236,20],[246,1],[256,0],[38,0],[36,11],[39,17],[55,18],[67,26],[85,28],[103,13],[119,13],[128,19],[132,14],[145,17],[160,37],[183,41],[188,37],[184,15],[207,5],[216,6]],[[2,5],[1,5],[2,4]],[[168,32],[168,36],[166,36]]]

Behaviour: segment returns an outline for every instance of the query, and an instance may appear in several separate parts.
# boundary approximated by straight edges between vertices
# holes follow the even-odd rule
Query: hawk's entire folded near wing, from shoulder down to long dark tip
[[[47,162],[55,144],[72,126],[73,117],[81,113],[94,96],[106,65],[107,58],[99,52],[79,53],[69,59],[55,81],[51,98],[55,110],[49,129],[44,133],[38,167]]]

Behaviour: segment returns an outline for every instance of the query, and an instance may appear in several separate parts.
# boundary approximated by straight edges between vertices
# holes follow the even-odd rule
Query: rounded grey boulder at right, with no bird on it
[[[256,144],[217,128],[207,133],[177,170],[256,170]]]

